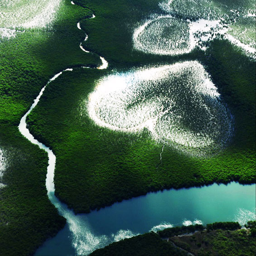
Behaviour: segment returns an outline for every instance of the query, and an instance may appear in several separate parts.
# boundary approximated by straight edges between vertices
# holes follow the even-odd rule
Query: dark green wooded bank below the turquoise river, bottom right
[[[207,224],[216,230],[203,230],[203,225],[188,227],[173,227],[158,234],[153,232],[124,239],[94,251],[91,255],[255,255],[256,240],[251,227],[254,222],[248,222],[250,229],[240,229],[237,222],[215,222]],[[219,228],[217,228],[219,227]],[[237,227],[237,228],[235,228]],[[188,234],[193,232],[193,234]],[[184,236],[179,236],[184,234]],[[162,240],[160,237],[169,238]],[[168,241],[168,242],[167,242]],[[175,247],[174,247],[175,246]],[[177,248],[178,246],[178,248]],[[174,251],[174,248],[177,250]],[[183,249],[184,251],[180,250]],[[173,250],[173,251],[171,251]]]

